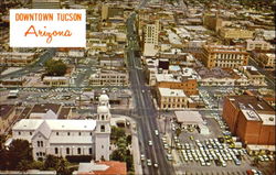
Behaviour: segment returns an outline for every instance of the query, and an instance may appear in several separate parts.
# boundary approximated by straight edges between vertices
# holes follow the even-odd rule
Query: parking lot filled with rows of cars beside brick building
[[[214,111],[201,111],[210,134],[202,135],[194,129],[182,130],[177,136],[178,124],[169,117],[166,134],[161,135],[167,154],[177,174],[189,175],[246,175],[248,169],[259,169],[263,174],[273,175],[274,156],[261,156],[258,166],[253,166],[254,157],[244,147],[233,147],[231,132],[221,114]],[[163,131],[163,119],[159,119]],[[172,145],[172,151],[171,151]],[[169,157],[167,156],[168,161]],[[265,161],[266,158],[266,161]],[[270,166],[265,166],[265,165]]]

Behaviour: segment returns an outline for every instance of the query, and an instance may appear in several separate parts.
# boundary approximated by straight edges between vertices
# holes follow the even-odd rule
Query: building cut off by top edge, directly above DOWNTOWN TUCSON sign
[[[32,9],[61,9],[61,0],[32,0]]]

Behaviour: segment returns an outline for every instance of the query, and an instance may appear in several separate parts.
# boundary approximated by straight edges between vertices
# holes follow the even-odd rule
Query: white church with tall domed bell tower
[[[34,160],[87,155],[109,161],[110,112],[107,95],[99,97],[96,120],[22,119],[12,128],[12,140],[28,140]]]

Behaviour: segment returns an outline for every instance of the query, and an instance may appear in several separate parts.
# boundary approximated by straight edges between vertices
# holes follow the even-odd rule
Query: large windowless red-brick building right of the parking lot
[[[261,97],[225,98],[223,118],[244,144],[275,145],[275,110]]]

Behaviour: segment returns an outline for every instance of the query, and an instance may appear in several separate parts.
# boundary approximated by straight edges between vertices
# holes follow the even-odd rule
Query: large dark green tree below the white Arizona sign
[[[63,76],[66,73],[67,66],[62,61],[50,59],[45,63],[46,75]]]

